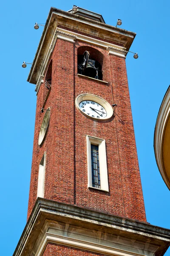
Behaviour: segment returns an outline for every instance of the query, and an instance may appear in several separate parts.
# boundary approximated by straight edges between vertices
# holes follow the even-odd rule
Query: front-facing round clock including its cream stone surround
[[[105,99],[90,93],[80,94],[76,98],[76,106],[84,115],[93,119],[104,120],[113,115],[113,109]]]

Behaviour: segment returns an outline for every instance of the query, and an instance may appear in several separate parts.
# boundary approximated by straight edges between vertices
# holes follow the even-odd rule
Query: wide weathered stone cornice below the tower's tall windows
[[[65,227],[63,227],[63,224],[59,226],[59,223],[65,223]],[[91,230],[91,233],[96,234],[95,237],[99,240],[95,240],[93,243],[91,239],[94,239],[94,235],[90,236],[90,240],[81,239],[79,236],[77,240],[71,235],[72,233],[67,234],[69,225],[77,226],[77,230],[86,229],[88,233]],[[59,230],[59,233],[51,230]],[[72,228],[69,232],[72,232],[71,230]],[[61,232],[63,235],[61,235]],[[113,239],[110,238],[108,241],[111,241],[111,246],[105,247],[105,243],[101,244],[100,242],[100,234],[97,234],[100,232],[103,233],[103,237],[110,234],[109,236],[116,238],[116,241],[118,241],[116,244],[119,246],[115,246],[115,243],[112,242]],[[66,246],[86,248],[85,250],[89,250],[90,246],[90,250],[99,251],[100,253],[104,253],[104,250],[107,249],[108,251],[105,251],[106,255],[163,256],[170,245],[170,230],[75,205],[37,198],[14,256],[42,255],[42,248],[49,241],[65,244]],[[131,249],[126,250],[126,246],[129,246],[127,243],[130,243]],[[139,250],[136,251],[133,247]],[[124,254],[120,254],[122,248]],[[129,254],[127,254],[127,251]]]

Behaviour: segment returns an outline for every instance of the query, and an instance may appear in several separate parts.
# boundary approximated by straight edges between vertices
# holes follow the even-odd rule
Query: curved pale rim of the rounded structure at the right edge
[[[167,180],[166,170],[164,170],[163,164],[163,154],[162,154],[162,143],[164,136],[164,128],[165,125],[170,118],[170,87],[167,90],[167,93],[164,96],[163,102],[161,104],[161,108],[159,110],[158,118],[156,120],[155,134],[154,134],[154,150],[156,162],[159,168],[159,172],[167,185],[168,189],[170,189],[170,180]]]

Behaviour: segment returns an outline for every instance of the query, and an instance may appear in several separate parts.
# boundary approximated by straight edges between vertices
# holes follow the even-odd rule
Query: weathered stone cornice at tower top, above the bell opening
[[[62,29],[59,29],[59,25],[68,27],[70,30],[72,28],[76,28],[79,33],[76,34],[74,32],[71,32],[70,30],[62,31]],[[83,32],[88,34],[89,36],[83,36]],[[101,38],[101,40],[93,38],[94,33],[96,33],[96,37]],[[79,15],[74,15],[52,8],[48,15],[45,28],[40,40],[40,44],[38,46],[27,81],[33,84],[37,84],[38,78],[45,75],[45,71],[48,66],[49,59],[51,57],[51,53],[54,49],[57,38],[67,40],[73,43],[75,40],[82,40],[87,41],[89,44],[105,44],[105,46],[107,47],[110,46],[116,48],[109,49],[109,54],[115,54],[125,58],[126,53],[117,50],[121,48],[118,45],[122,45],[122,50],[128,51],[135,35],[135,33],[129,32],[125,29],[119,29],[105,23],[90,20]],[[108,41],[113,41],[113,44],[107,43]],[[118,45],[115,45],[115,42],[117,42]],[[36,86],[36,90],[37,87],[38,85]]]

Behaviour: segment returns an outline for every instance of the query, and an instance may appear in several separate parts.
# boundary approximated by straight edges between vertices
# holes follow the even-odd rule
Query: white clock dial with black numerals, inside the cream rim
[[[91,100],[83,100],[79,103],[79,109],[86,114],[96,119],[105,119],[107,111],[99,103]]]

